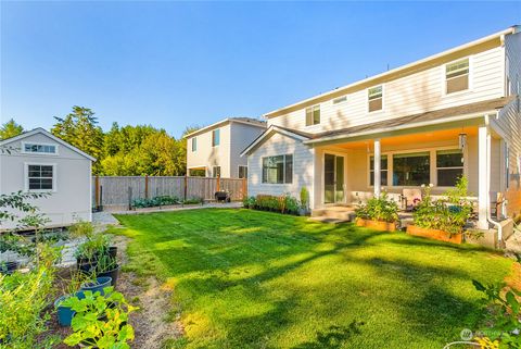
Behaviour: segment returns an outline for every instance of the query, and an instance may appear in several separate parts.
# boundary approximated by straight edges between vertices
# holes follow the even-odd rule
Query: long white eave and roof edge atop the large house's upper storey
[[[332,98],[336,97],[342,97],[346,94],[351,94],[356,90],[360,90],[363,88],[369,88],[374,85],[383,84],[385,82],[389,82],[390,79],[394,79],[414,72],[418,72],[421,70],[425,70],[429,67],[432,67],[433,65],[439,65],[441,62],[448,62],[454,59],[458,59],[468,54],[471,54],[479,50],[482,47],[486,48],[493,48],[493,47],[498,47],[503,42],[503,38],[506,35],[509,34],[516,34],[521,32],[521,26],[520,25],[513,25],[511,27],[508,27],[507,29],[504,29],[498,33],[494,33],[492,35],[485,36],[483,38],[480,38],[478,40],[471,41],[463,43],[461,46],[455,47],[453,49],[430,55],[428,58],[415,61],[409,64],[405,64],[402,66],[398,66],[396,68],[390,70],[387,72],[377,74],[373,76],[369,76],[365,79],[354,82],[352,84],[338,87],[335,89],[329,90],[327,92],[297,101],[293,104],[282,107],[280,109],[270,111],[263,116],[265,119],[270,119],[270,117],[276,117],[280,115],[284,115],[289,112],[302,109],[304,107],[310,107],[315,105],[320,102],[328,101]],[[482,50],[482,49],[481,49]]]

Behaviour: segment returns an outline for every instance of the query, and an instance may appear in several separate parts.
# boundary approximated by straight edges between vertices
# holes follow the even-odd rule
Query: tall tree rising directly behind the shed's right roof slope
[[[58,116],[54,119],[56,123],[51,128],[51,133],[97,158],[99,161],[93,164],[92,172],[100,173],[100,160],[103,155],[103,130],[98,126],[94,112],[88,108],[74,105],[72,113],[63,119]]]

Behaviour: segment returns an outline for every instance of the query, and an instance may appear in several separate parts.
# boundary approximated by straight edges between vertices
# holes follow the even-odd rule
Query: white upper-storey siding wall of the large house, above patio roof
[[[319,125],[305,126],[305,108],[271,117],[268,125],[318,133],[498,98],[504,96],[504,61],[501,47],[470,55],[468,91],[444,95],[445,66],[439,64],[385,82],[382,111],[368,113],[367,89],[363,88],[348,92],[345,102],[333,104],[328,100],[320,103]]]

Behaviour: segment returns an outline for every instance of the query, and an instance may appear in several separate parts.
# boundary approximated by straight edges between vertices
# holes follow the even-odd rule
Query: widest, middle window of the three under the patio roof
[[[430,152],[393,155],[393,185],[420,186],[430,183]]]

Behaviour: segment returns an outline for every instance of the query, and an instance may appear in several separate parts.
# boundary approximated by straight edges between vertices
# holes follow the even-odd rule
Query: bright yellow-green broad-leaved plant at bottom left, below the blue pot
[[[71,297],[63,302],[76,312],[72,322],[74,333],[64,339],[67,346],[130,348],[128,341],[134,340],[134,328],[128,315],[138,308],[129,304],[113,287],[105,287],[103,291],[103,296],[99,291],[85,291],[84,298]]]

